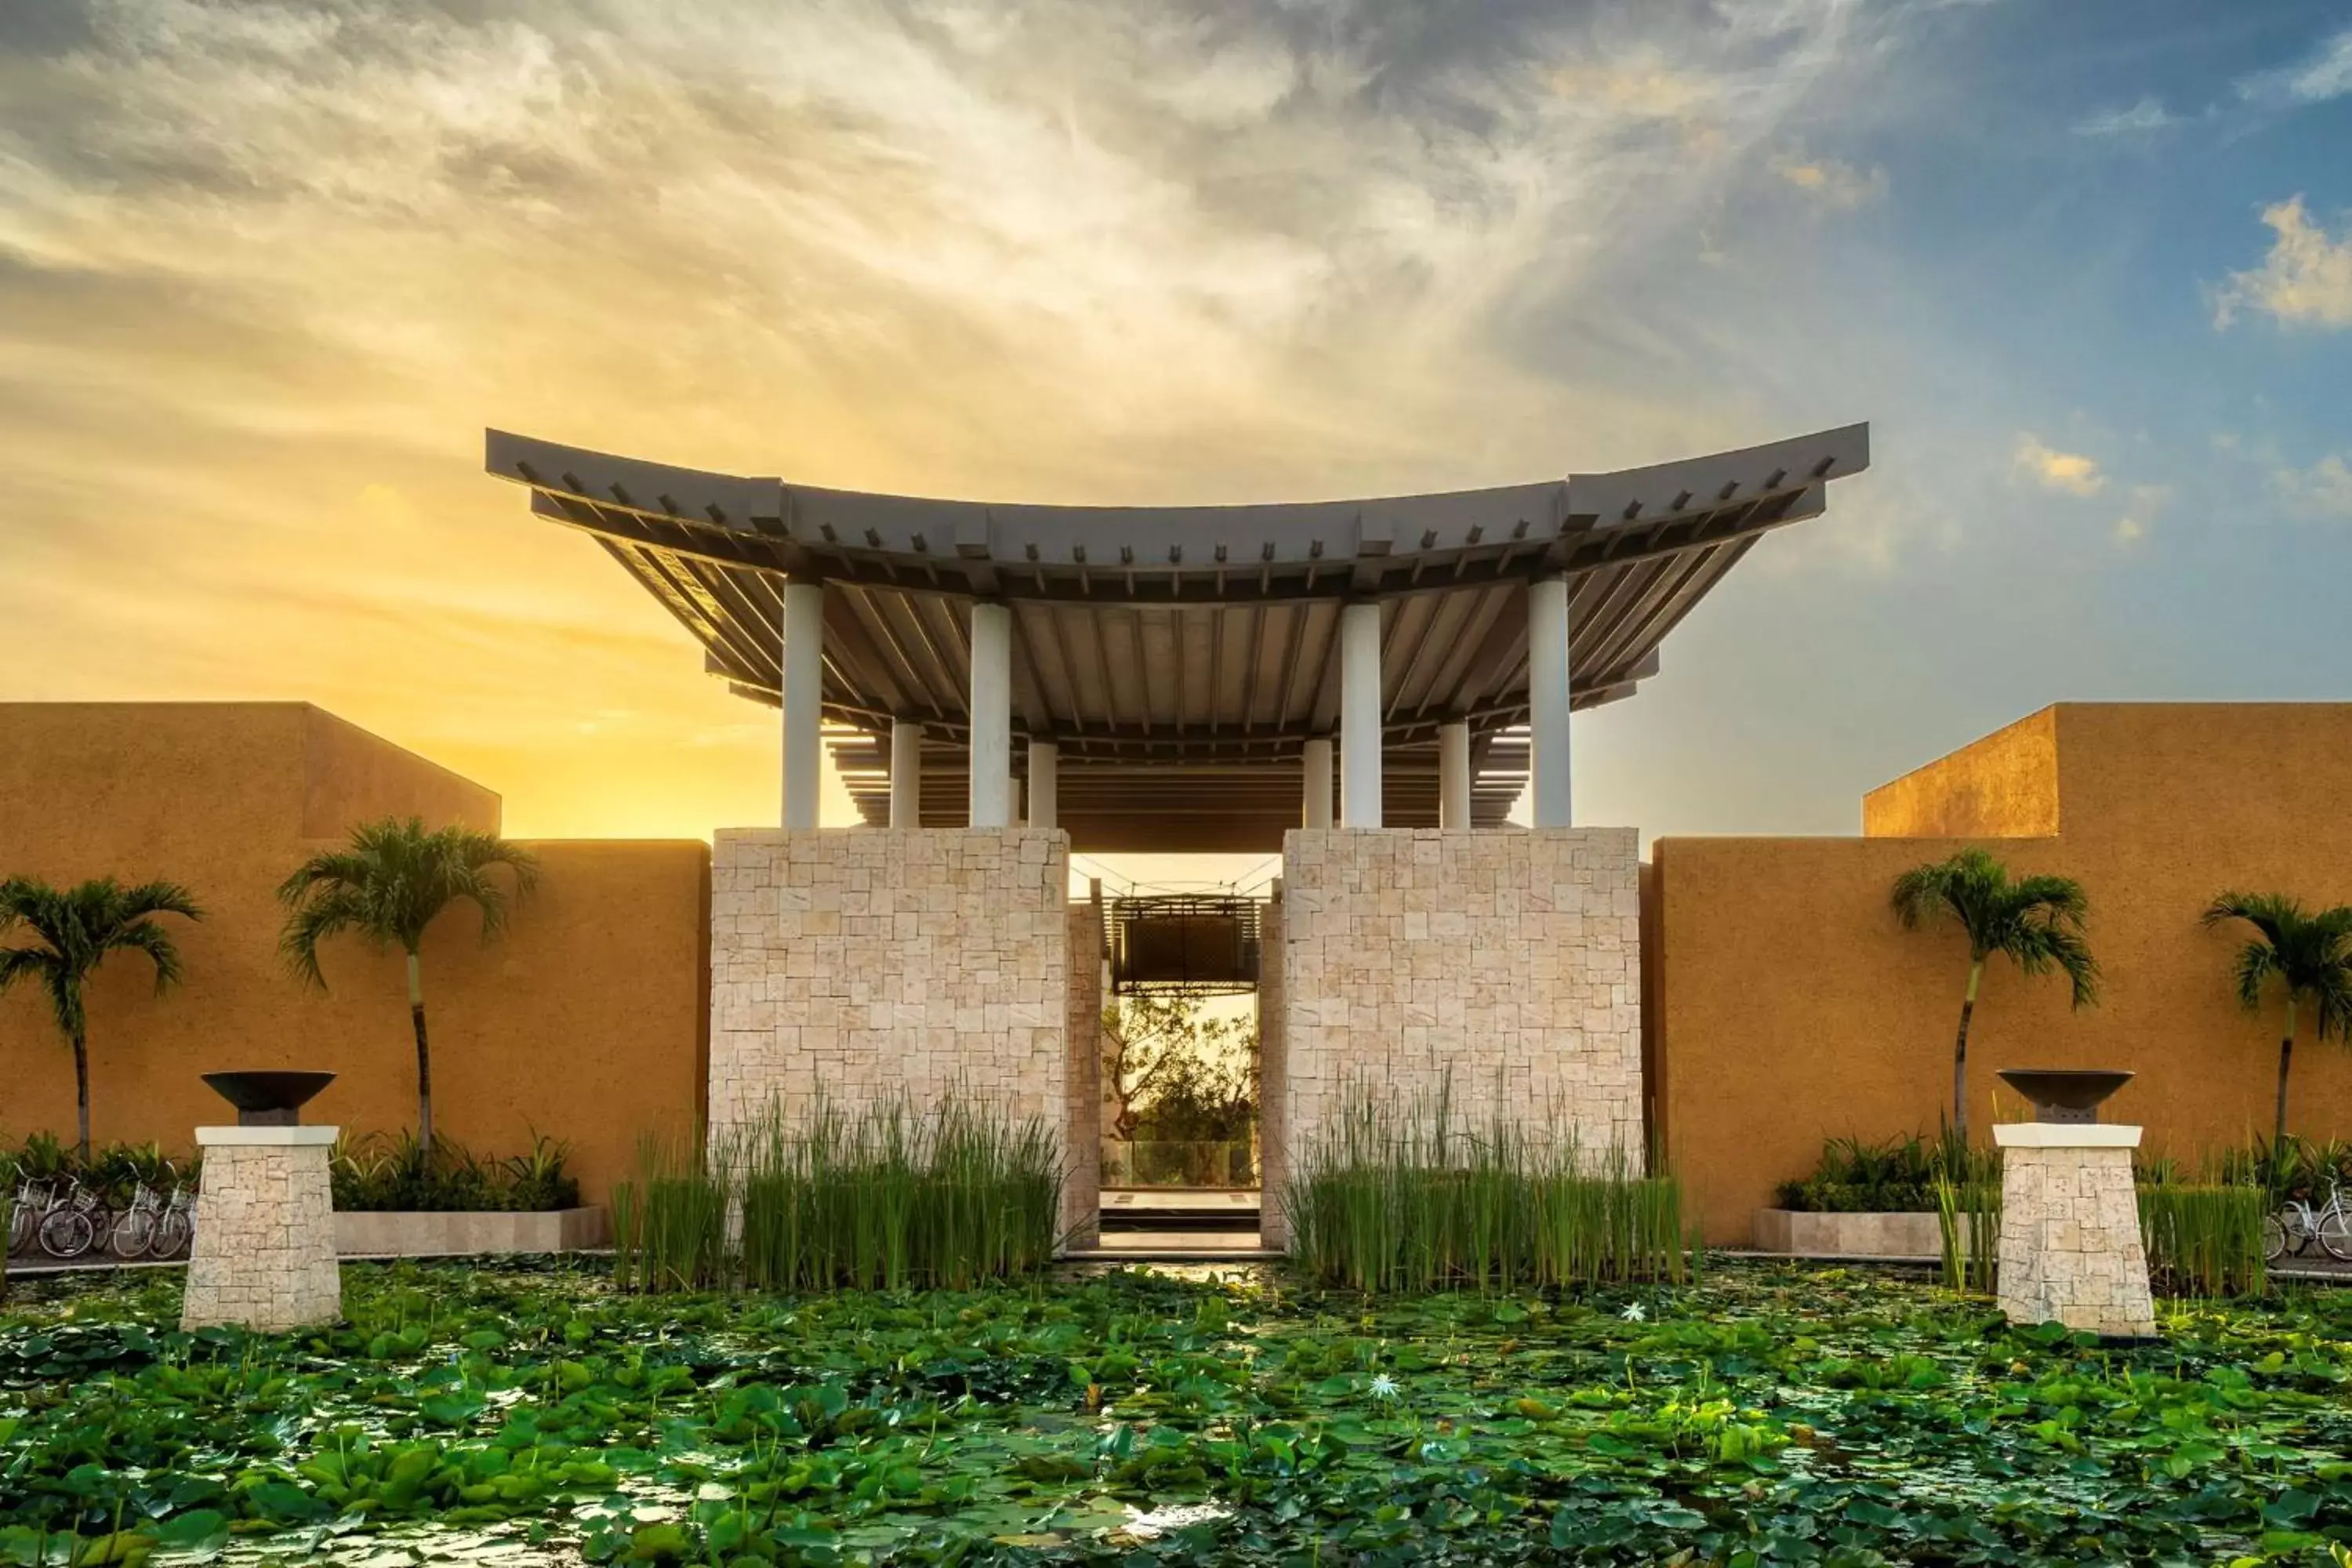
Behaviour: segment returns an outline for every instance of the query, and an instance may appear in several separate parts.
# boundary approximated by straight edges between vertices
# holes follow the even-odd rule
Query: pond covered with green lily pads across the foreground
[[[350,1265],[0,1305],[0,1563],[2347,1561],[2352,1293],[2100,1349],[1842,1269],[1364,1300],[1279,1274],[619,1295]]]

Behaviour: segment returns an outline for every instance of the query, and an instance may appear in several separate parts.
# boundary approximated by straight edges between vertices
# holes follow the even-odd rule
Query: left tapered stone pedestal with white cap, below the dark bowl
[[[343,1316],[332,1126],[200,1126],[205,1178],[181,1328],[308,1328]]]

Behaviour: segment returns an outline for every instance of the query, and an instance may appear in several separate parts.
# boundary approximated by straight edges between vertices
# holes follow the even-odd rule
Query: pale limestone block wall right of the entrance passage
[[[1291,830],[1282,849],[1287,1171],[1350,1086],[1642,1159],[1632,827]]]

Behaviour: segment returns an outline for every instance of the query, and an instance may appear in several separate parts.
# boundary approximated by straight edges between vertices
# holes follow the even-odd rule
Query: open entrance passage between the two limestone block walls
[[[1258,1229],[1261,910],[1242,893],[1103,903],[1105,1232]]]

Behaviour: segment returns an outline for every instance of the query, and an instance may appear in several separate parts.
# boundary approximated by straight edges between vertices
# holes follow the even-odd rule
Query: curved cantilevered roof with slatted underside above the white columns
[[[1014,611],[1014,726],[1061,745],[1077,849],[1277,849],[1301,743],[1338,722],[1338,611],[1383,607],[1383,799],[1437,823],[1437,726],[1472,731],[1472,820],[1526,783],[1526,595],[1569,578],[1590,708],[1766,531],[1870,465],[1870,425],[1536,484],[1270,505],[1004,505],[748,480],[492,430],[487,468],[590,534],[734,691],[781,689],[786,576],[821,578],[833,755],[887,816],[891,719],[927,726],[924,820],[962,823],[971,599]],[[1018,766],[1021,748],[1016,748]]]

